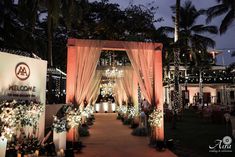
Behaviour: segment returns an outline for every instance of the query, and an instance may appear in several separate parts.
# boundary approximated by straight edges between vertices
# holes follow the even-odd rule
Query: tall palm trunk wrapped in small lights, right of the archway
[[[180,0],[176,0],[176,16],[175,16],[175,38],[177,42],[179,39],[179,12]],[[174,49],[174,66],[175,66],[175,79],[174,79],[174,105],[173,105],[173,119],[172,128],[176,128],[177,114],[180,107],[180,93],[179,93],[179,48]]]

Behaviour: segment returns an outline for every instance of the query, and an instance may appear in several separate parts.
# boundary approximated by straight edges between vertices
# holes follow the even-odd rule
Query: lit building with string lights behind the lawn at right
[[[183,105],[235,106],[235,73],[225,66],[214,65],[210,69],[192,72],[180,66],[180,94]],[[164,100],[173,103],[174,66],[164,69]]]

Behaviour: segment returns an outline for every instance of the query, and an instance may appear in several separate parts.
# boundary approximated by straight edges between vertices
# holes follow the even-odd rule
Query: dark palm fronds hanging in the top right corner
[[[220,24],[220,33],[223,34],[228,30],[235,19],[235,0],[216,1],[218,4],[207,10],[207,22],[210,22],[215,17],[225,14]]]

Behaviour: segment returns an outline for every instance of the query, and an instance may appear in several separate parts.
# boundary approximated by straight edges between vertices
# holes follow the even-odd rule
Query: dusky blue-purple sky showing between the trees
[[[90,0],[95,1],[95,0]],[[99,0],[98,0],[99,1]],[[159,9],[156,12],[156,18],[163,17],[164,21],[161,23],[157,23],[156,27],[159,26],[173,26],[172,22],[172,11],[170,6],[175,5],[176,0],[109,0],[111,3],[117,3],[121,8],[126,8],[130,2],[133,4],[143,4],[145,6],[149,6],[149,3],[152,3],[154,6],[158,6]],[[181,0],[181,5],[185,2],[185,0]],[[216,0],[192,0],[193,4],[197,9],[206,9],[210,6],[216,4]],[[210,25],[219,26],[221,19],[223,16],[214,19]],[[205,17],[201,17],[198,20],[198,24],[205,24]],[[222,51],[223,53],[218,55],[217,63],[228,65],[232,62],[235,62],[235,57],[231,57],[230,51],[235,51],[235,23],[230,27],[230,29],[223,35],[213,35],[210,36],[216,41],[217,50]]]

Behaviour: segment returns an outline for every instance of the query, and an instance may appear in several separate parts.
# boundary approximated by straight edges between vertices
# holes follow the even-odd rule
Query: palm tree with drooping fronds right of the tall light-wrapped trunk
[[[191,58],[193,69],[199,71],[199,96],[203,103],[202,94],[202,71],[208,68],[210,58],[208,57],[207,48],[214,47],[215,41],[203,34],[217,34],[216,26],[207,26],[196,24],[198,17],[204,13],[204,10],[197,10],[191,1],[186,1],[180,8],[180,39],[181,58],[185,63],[186,71],[188,60]]]

